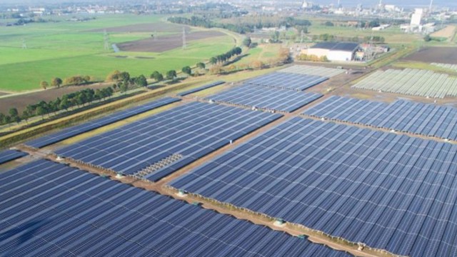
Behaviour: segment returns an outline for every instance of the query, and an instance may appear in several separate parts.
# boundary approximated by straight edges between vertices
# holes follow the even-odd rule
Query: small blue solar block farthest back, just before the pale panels
[[[207,100],[256,107],[271,111],[292,112],[321,98],[322,94],[303,93],[288,89],[243,85],[206,97]]]

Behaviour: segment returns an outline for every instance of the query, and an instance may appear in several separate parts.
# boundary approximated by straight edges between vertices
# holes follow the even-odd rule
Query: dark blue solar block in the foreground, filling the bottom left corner
[[[0,256],[349,256],[51,161],[0,181]]]

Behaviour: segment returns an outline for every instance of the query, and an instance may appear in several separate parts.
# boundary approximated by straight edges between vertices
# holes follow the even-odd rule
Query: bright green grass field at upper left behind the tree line
[[[167,24],[164,19],[164,16],[107,15],[83,22],[62,19],[57,23],[0,27],[0,70],[3,75],[0,91],[39,89],[40,81],[50,81],[56,76],[63,79],[74,75],[89,75],[103,80],[116,69],[129,71],[132,76],[148,76],[154,70],[180,70],[183,66],[192,66],[224,53],[235,44],[231,36],[217,36],[189,41],[186,50],[179,48],[163,53],[114,53],[104,49],[103,31],[91,31],[136,24],[175,26]],[[113,44],[146,39],[151,33],[171,34],[166,31],[109,32],[109,42]],[[173,33],[176,33],[176,28]],[[23,40],[27,49],[22,49]]]

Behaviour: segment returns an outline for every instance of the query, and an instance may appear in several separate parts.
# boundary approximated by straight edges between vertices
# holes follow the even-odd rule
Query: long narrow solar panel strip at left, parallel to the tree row
[[[131,116],[135,116],[137,114],[142,114],[146,111],[151,111],[151,110],[159,108],[161,106],[165,106],[167,104],[174,103],[176,101],[181,101],[181,99],[174,99],[171,97],[166,97],[166,98],[159,99],[156,101],[151,101],[148,104],[136,106],[131,109],[126,109],[124,111],[118,111],[114,114],[104,116],[101,119],[96,119],[94,121],[87,121],[84,124],[71,126],[67,129],[62,129],[59,132],[52,133],[51,135],[42,136],[41,138],[36,138],[32,141],[26,142],[26,145],[33,146],[35,148],[42,148],[44,146],[49,146],[53,143],[64,141],[67,138],[77,136],[81,133],[86,133],[86,132],[94,130],[94,129],[99,129],[102,126],[113,124],[116,121],[121,121],[121,120],[127,119]]]

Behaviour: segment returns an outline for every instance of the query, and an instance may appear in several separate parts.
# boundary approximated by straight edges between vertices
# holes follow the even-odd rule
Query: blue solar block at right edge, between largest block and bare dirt
[[[457,140],[457,109],[413,101],[392,104],[332,96],[303,114]]]

